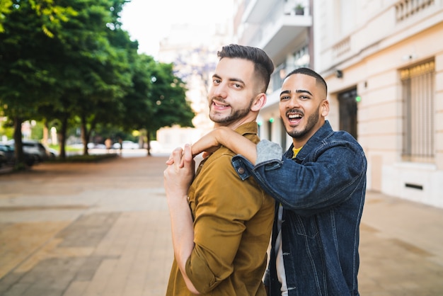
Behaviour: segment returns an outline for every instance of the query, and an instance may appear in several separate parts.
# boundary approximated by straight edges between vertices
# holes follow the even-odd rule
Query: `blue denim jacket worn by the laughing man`
[[[255,179],[281,203],[282,252],[289,295],[359,295],[359,223],[366,191],[367,161],[347,132],[328,121],[295,159],[292,147],[282,157],[278,144],[262,140],[253,166],[237,155],[232,164],[241,178]],[[276,211],[277,213],[277,211]],[[281,295],[274,249],[277,217],[265,285]]]

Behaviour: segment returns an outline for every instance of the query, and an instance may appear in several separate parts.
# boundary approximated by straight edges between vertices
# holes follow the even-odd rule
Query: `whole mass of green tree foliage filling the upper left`
[[[81,125],[85,141],[94,130],[192,126],[172,64],[139,55],[121,29],[126,2],[0,0],[0,113],[54,123],[64,136]]]

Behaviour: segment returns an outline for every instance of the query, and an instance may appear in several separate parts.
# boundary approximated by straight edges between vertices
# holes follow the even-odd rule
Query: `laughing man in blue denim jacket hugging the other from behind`
[[[192,145],[192,154],[222,144],[238,155],[241,178],[253,176],[276,200],[268,295],[359,295],[359,223],[367,161],[347,132],[326,120],[324,79],[308,68],[284,79],[280,117],[292,137],[286,153],[275,143],[257,145],[217,128]]]

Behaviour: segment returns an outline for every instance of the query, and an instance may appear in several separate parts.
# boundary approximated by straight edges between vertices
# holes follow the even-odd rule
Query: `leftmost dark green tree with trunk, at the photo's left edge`
[[[1,1],[0,108],[13,121],[16,166],[24,166],[21,124],[38,115],[39,96],[55,95],[57,80],[47,69],[52,31],[73,16],[71,8],[42,1]]]

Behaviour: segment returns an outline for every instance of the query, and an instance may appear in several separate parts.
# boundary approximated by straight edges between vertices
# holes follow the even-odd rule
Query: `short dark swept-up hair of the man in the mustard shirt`
[[[274,64],[264,50],[258,47],[230,44],[222,47],[222,50],[217,52],[217,56],[220,59],[230,57],[248,59],[253,62],[254,72],[263,80],[264,89],[261,91],[263,91],[263,93],[266,91],[267,86],[269,86],[271,74],[274,72]]]

